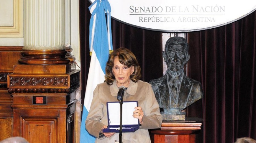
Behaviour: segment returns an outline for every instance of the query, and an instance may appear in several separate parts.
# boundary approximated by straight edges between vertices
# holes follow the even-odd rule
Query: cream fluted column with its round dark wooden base
[[[23,0],[24,47],[21,64],[68,63],[65,47],[65,1]]]

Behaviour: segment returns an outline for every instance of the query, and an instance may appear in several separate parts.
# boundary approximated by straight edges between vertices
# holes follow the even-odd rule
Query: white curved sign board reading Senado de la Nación
[[[94,0],[90,1],[94,2]],[[255,0],[108,0],[111,17],[135,27],[190,32],[232,23],[256,10]]]

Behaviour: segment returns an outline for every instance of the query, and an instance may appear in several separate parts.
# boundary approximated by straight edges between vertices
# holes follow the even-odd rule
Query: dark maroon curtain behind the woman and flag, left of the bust
[[[88,0],[79,1],[82,102],[84,101],[91,59],[89,55],[89,22],[91,13],[88,9],[90,5],[91,3]],[[135,54],[141,67],[141,80],[149,82],[150,79],[163,76],[162,32],[132,27],[122,24],[113,18],[111,23],[113,49],[125,47]]]

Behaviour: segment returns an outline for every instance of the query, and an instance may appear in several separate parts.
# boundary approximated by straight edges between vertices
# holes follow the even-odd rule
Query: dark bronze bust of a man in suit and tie
[[[163,52],[167,65],[166,74],[150,80],[161,114],[183,114],[183,109],[203,98],[200,82],[184,74],[184,65],[188,62],[188,43],[183,37],[171,37],[167,40]]]

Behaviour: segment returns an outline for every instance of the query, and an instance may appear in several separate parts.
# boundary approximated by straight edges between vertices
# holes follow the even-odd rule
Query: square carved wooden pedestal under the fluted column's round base
[[[7,80],[8,92],[13,97],[13,136],[30,143],[75,143],[80,71],[70,67],[14,66]]]

